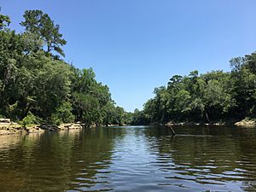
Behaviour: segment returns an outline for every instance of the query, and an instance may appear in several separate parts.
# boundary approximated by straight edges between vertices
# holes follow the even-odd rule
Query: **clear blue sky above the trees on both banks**
[[[143,108],[174,74],[223,69],[256,50],[254,0],[0,0],[11,27],[26,9],[60,24],[66,60],[93,67],[127,111]]]

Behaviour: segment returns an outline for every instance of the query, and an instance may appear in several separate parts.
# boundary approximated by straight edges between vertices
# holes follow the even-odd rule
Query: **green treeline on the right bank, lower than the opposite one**
[[[135,111],[133,124],[212,122],[256,117],[256,53],[230,61],[231,71],[174,75]]]

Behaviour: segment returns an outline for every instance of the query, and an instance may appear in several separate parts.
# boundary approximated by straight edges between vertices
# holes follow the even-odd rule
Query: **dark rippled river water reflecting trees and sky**
[[[256,128],[116,127],[0,137],[0,191],[256,191]]]

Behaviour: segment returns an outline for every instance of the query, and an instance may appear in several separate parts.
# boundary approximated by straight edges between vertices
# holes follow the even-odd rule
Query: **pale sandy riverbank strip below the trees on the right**
[[[256,126],[256,119],[242,119],[240,121],[238,120],[220,120],[220,121],[212,121],[210,123],[204,123],[204,122],[169,122],[166,123],[168,126],[173,126],[173,125],[213,125],[213,126],[218,126],[218,125],[236,125],[236,126]]]

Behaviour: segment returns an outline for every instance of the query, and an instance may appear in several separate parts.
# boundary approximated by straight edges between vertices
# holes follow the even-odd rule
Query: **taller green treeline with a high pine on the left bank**
[[[61,59],[67,42],[49,15],[27,10],[21,33],[9,29],[10,22],[0,15],[0,117],[25,124],[131,122],[131,113],[115,106],[91,68]]]

